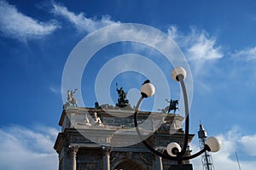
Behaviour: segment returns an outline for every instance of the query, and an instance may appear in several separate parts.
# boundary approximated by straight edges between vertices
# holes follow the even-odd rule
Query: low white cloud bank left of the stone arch
[[[57,169],[58,156],[53,149],[57,130],[38,130],[11,126],[0,129],[0,169]]]

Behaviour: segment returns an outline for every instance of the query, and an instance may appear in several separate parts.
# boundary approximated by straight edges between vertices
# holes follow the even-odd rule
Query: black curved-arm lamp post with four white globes
[[[221,142],[215,138],[215,137],[209,137],[205,143],[205,146],[202,150],[198,151],[194,155],[191,156],[185,156],[186,149],[189,143],[189,105],[188,105],[188,96],[187,91],[184,83],[184,79],[186,78],[186,71],[183,69],[183,67],[177,67],[174,68],[172,73],[172,79],[176,82],[180,82],[182,91],[183,91],[183,100],[184,100],[184,106],[185,106],[185,137],[183,141],[183,147],[181,148],[179,144],[176,142],[172,142],[166,146],[166,151],[168,154],[160,153],[157,150],[154,150],[150,144],[148,144],[145,140],[143,140],[142,133],[140,132],[138,126],[137,126],[137,112],[139,109],[139,106],[141,105],[144,98],[148,98],[154,95],[154,85],[150,83],[149,80],[143,83],[143,86],[141,88],[141,98],[137,102],[137,106],[135,108],[134,113],[134,124],[137,130],[137,134],[140,139],[143,140],[143,144],[153,152],[155,155],[160,156],[162,158],[177,161],[177,169],[193,169],[192,165],[189,167],[184,167],[185,164],[183,164],[183,161],[193,159],[197,156],[200,156],[202,153],[207,151],[217,152],[220,150]],[[174,168],[173,168],[174,169]]]

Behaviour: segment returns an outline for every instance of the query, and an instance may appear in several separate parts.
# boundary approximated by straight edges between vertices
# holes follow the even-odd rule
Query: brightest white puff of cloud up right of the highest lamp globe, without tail
[[[198,31],[191,28],[188,35],[177,31],[177,26],[170,26],[168,35],[177,42],[185,51],[190,60],[205,61],[208,59],[219,59],[224,56],[221,46],[217,46],[216,37],[209,37],[207,31]]]

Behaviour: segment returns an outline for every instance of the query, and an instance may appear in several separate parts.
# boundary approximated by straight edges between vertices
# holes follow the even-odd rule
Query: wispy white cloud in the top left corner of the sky
[[[55,20],[40,22],[20,13],[15,6],[0,2],[0,30],[6,37],[26,41],[51,34],[57,28]]]

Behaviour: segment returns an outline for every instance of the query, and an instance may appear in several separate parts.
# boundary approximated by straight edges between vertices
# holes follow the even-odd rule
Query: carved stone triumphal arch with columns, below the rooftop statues
[[[101,126],[93,119],[95,112]],[[90,124],[84,122],[85,115]],[[162,125],[155,125],[155,120]],[[170,142],[182,145],[182,121],[183,117],[175,114],[140,111],[138,115],[142,132],[153,134],[148,143],[162,151]],[[177,164],[155,156],[143,143],[136,142],[133,111],[74,107],[62,111],[59,125],[61,133],[54,146],[59,154],[59,170],[166,170]]]

